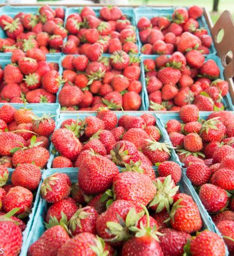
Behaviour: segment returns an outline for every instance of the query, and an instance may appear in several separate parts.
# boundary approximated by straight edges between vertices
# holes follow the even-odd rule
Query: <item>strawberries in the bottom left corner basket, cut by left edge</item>
[[[32,163],[19,165],[12,172],[0,166],[0,243],[6,255],[18,255],[22,247],[22,232],[33,206],[33,192],[42,174]]]

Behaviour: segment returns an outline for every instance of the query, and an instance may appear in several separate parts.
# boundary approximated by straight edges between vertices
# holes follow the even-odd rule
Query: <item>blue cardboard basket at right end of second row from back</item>
[[[159,55],[145,55],[145,54],[142,54],[140,56],[140,59],[141,59],[141,62],[142,62],[142,66],[141,66],[142,70],[144,70],[144,66],[143,66],[144,60],[146,60],[146,59],[153,59],[153,60],[155,60],[155,59],[157,59],[157,57],[159,57]],[[168,55],[168,57],[170,57],[170,55]],[[219,70],[220,70],[219,78],[221,78],[222,80],[225,80],[224,77],[223,77],[223,70],[224,70],[224,68],[222,66],[222,62],[219,59],[219,57],[215,56],[215,55],[205,55],[205,62],[207,60],[210,60],[210,59],[214,60],[215,63],[219,67]],[[149,97],[148,97],[147,90],[146,90],[146,87],[147,87],[146,86],[146,76],[144,74],[144,71],[143,71],[143,83],[144,83],[143,88],[144,88],[144,96],[145,96],[144,97],[144,101],[145,101],[144,105],[146,107],[146,110],[149,110],[150,103],[149,103]],[[230,93],[228,93],[225,97],[223,97],[222,103],[225,105],[225,110],[233,111],[233,104],[232,104],[232,98],[230,97]]]

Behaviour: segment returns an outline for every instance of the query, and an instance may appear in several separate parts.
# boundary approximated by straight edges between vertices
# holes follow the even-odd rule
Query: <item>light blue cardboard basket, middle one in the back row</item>
[[[83,8],[84,6],[80,6],[80,7],[68,7],[67,8],[67,12],[66,12],[66,15],[65,15],[65,19],[64,19],[64,28],[65,28],[65,26],[66,26],[66,22],[67,22],[67,17],[69,16],[69,15],[71,15],[71,14],[73,14],[73,13],[80,13],[81,12],[81,10],[82,10],[82,8]],[[94,10],[94,12],[95,12],[95,14],[97,15],[97,17],[99,17],[99,12],[100,12],[100,10],[102,9],[102,7],[101,6],[90,6],[93,10]],[[134,12],[134,8],[132,8],[132,7],[129,7],[129,6],[124,6],[124,7],[121,7],[120,6],[120,9],[121,9],[121,11],[122,11],[122,13],[123,13],[123,15],[126,15],[127,17],[128,17],[128,19],[130,19],[130,22],[132,23],[132,25],[133,26],[136,26],[136,19],[135,19],[135,12]],[[137,33],[137,32],[136,32]],[[137,45],[137,47],[138,47],[138,52],[140,53],[140,42],[139,42],[139,40],[138,40],[138,36],[136,36],[137,37],[137,42],[136,42],[136,45]],[[108,54],[108,53],[107,53]],[[108,54],[108,55],[110,55],[110,54]]]

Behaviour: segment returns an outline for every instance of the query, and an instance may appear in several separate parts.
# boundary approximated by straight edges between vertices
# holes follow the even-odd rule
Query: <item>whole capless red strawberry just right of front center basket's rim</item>
[[[220,211],[228,202],[225,190],[212,184],[202,185],[199,190],[199,197],[205,209],[211,213]]]

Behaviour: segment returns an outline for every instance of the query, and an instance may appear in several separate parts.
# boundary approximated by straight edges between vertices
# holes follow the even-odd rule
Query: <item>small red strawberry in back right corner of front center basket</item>
[[[181,168],[176,162],[165,161],[160,163],[158,170],[159,176],[161,177],[171,175],[171,178],[174,180],[175,184],[177,184],[181,179]]]

